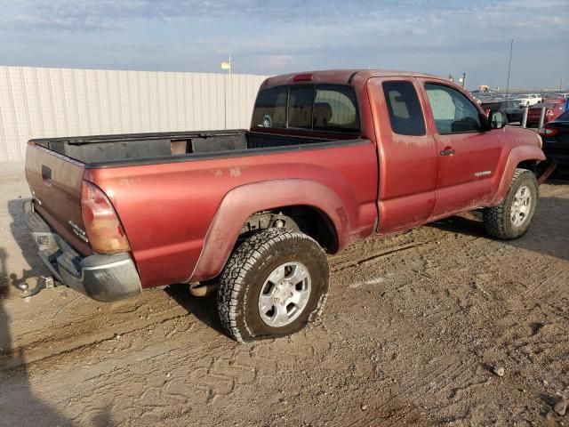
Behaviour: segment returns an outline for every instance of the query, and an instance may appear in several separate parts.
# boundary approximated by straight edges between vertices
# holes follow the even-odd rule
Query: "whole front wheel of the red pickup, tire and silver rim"
[[[488,234],[502,240],[522,237],[532,223],[538,195],[535,175],[526,169],[516,169],[506,198],[500,205],[484,210]]]

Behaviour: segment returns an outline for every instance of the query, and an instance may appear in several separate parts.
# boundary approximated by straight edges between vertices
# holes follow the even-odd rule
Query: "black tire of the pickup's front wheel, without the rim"
[[[530,205],[523,222],[516,224],[512,220],[512,206],[516,203],[519,189],[525,187],[529,190]],[[521,238],[530,228],[537,206],[539,188],[533,172],[526,169],[516,169],[509,185],[508,194],[500,205],[487,207],[484,210],[484,225],[486,232],[493,238],[513,240]]]

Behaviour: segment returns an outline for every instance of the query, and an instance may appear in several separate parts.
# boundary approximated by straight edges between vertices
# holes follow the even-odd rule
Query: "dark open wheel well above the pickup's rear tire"
[[[338,251],[338,235],[333,222],[316,207],[307,205],[283,206],[251,214],[241,228],[239,239],[272,227],[300,230],[314,238],[328,254]]]

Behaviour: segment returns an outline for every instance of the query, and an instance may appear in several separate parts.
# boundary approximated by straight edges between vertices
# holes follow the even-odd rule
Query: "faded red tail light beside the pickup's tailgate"
[[[91,182],[83,181],[81,188],[81,214],[92,250],[114,254],[131,250],[108,197]]]

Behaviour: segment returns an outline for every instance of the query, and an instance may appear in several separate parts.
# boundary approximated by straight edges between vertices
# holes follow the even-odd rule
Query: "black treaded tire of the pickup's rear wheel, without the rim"
[[[268,326],[260,315],[261,288],[268,276],[287,262],[299,262],[308,270],[308,302],[292,323]],[[293,334],[320,315],[328,295],[329,274],[325,252],[313,238],[289,229],[260,231],[231,254],[221,273],[217,294],[221,325],[237,342]]]

